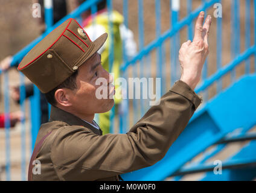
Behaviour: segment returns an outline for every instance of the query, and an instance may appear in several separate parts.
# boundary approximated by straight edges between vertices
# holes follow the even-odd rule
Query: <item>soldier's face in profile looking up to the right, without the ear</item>
[[[98,78],[105,83],[97,85]],[[96,53],[78,69],[77,89],[72,92],[72,108],[77,113],[104,113],[114,106],[115,87],[111,84],[113,77],[101,66],[101,55]],[[100,88],[99,88],[100,87]],[[107,90],[107,99],[98,99],[97,89]]]

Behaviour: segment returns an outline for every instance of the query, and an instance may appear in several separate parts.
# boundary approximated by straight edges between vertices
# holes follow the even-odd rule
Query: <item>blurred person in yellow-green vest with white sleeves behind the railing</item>
[[[77,4],[80,5],[85,1],[87,0],[77,0]],[[127,59],[131,59],[136,54],[136,42],[132,31],[124,25],[124,17],[116,10],[109,14],[107,1],[104,0],[97,4],[97,13],[94,15],[92,15],[91,9],[82,14],[82,27],[91,37],[91,40],[94,41],[103,33],[110,34],[109,18],[112,19],[114,35],[114,62],[112,69],[109,69],[110,39],[106,40],[98,53],[101,54],[103,68],[108,72],[114,73],[114,78],[117,80],[121,75],[120,66],[123,63],[123,48]],[[115,84],[115,87],[118,88],[118,85]],[[116,115],[123,113],[127,109],[126,101],[121,100],[121,98],[121,93],[115,94]],[[99,114],[98,122],[103,134],[110,132],[110,112]]]

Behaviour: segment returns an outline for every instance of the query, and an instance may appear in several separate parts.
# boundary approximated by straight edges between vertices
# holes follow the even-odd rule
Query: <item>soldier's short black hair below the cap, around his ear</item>
[[[68,77],[65,81],[63,81],[63,83],[61,83],[59,86],[55,87],[50,92],[45,93],[45,98],[48,101],[48,103],[56,107],[57,101],[54,95],[56,90],[58,89],[62,89],[62,88],[71,89],[71,90],[77,89],[77,83],[76,83],[77,75],[78,75],[78,71],[75,71],[70,77]]]

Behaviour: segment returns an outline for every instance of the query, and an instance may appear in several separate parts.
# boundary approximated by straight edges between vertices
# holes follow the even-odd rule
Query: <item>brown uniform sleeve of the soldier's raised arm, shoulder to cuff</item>
[[[78,126],[66,127],[51,152],[60,180],[96,180],[153,165],[165,156],[200,102],[178,81],[126,134],[98,136]]]

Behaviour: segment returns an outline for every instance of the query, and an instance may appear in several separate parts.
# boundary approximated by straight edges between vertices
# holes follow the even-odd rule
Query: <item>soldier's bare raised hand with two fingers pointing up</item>
[[[203,64],[209,54],[208,34],[211,26],[211,16],[207,16],[203,24],[205,13],[200,12],[195,26],[193,42],[188,40],[179,50],[179,62],[182,68],[181,80],[193,90],[199,83]]]

